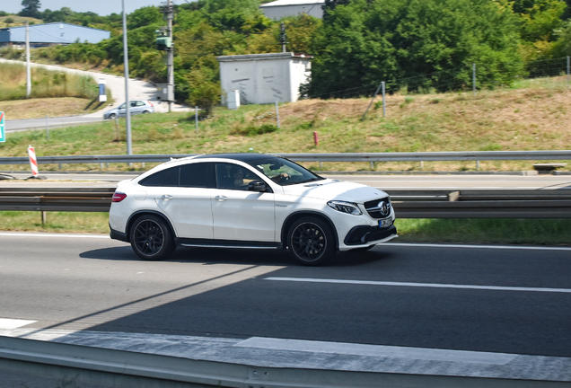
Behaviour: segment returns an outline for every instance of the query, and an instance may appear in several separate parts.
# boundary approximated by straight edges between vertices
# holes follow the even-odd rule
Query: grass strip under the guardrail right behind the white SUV
[[[0,230],[109,234],[108,213],[0,211]],[[394,242],[571,246],[571,219],[397,219]]]

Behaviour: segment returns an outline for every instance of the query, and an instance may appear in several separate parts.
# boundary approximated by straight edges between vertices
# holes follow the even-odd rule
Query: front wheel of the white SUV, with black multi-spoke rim
[[[289,228],[287,249],[295,260],[307,266],[326,264],[337,252],[331,227],[312,216],[300,218]]]

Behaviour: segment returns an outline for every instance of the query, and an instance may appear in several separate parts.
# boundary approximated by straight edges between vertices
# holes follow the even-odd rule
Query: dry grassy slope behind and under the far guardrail
[[[435,102],[437,101],[437,103]],[[259,153],[386,153],[422,151],[526,151],[571,149],[571,93],[565,87],[533,87],[496,92],[388,96],[388,117],[369,110],[369,99],[304,100],[281,104],[280,128],[273,105],[218,107],[199,121],[193,112],[132,118],[134,154]],[[317,132],[319,145],[313,141]],[[10,133],[0,156],[25,156],[34,145],[39,156],[126,154],[125,120],[42,131]],[[480,170],[531,171],[533,163],[571,161],[481,161]],[[475,162],[303,163],[321,171],[476,171]],[[145,166],[148,169],[151,165]],[[66,166],[99,170],[99,164]],[[17,170],[27,169],[24,166]],[[40,170],[57,165],[40,165]],[[111,165],[110,171],[141,169]]]

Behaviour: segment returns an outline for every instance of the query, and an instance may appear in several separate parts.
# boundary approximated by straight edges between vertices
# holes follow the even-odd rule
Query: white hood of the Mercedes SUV
[[[382,190],[378,190],[364,184],[329,179],[283,186],[283,188],[284,194],[286,195],[320,198],[325,200],[337,199],[361,204],[369,200],[389,196]]]

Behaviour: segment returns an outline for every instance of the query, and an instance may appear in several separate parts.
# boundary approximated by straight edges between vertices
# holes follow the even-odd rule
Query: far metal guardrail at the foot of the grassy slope
[[[39,164],[163,163],[195,154],[136,154],[91,156],[38,156]],[[280,154],[296,162],[431,162],[497,160],[569,160],[571,151],[462,151],[415,153]],[[0,157],[0,164],[27,164],[28,157]]]

